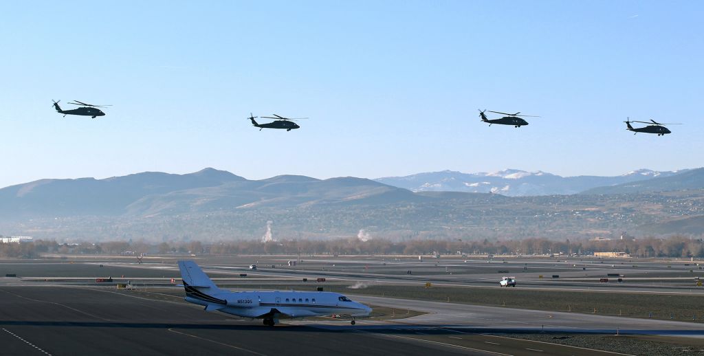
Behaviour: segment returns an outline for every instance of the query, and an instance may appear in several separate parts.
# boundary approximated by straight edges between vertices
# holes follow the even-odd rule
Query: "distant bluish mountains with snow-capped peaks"
[[[415,192],[465,191],[472,193],[499,193],[504,196],[547,196],[575,194],[598,186],[637,182],[653,177],[670,177],[672,174],[676,174],[676,172],[636,170],[617,177],[560,177],[541,171],[501,170],[492,173],[467,174],[446,170],[412,174],[406,177],[385,177],[375,180]]]

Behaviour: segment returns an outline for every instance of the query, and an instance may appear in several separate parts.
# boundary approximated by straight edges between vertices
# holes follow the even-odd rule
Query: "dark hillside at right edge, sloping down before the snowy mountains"
[[[704,189],[704,168],[687,170],[679,174],[656,177],[639,182],[602,186],[584,191],[584,194],[627,194],[687,189]]]

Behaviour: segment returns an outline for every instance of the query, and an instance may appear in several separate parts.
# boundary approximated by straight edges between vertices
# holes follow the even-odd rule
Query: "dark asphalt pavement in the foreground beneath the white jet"
[[[393,301],[381,299],[386,298],[374,303]],[[0,343],[3,355],[614,355],[486,336],[487,330],[471,329],[478,317],[458,314],[439,324],[456,310],[437,304],[429,306],[443,310],[435,319],[360,320],[356,326],[303,321],[269,328],[260,321],[233,320],[197,306],[108,288],[0,286]],[[494,323],[484,320],[482,325]],[[494,325],[504,331],[524,329],[507,321]]]

